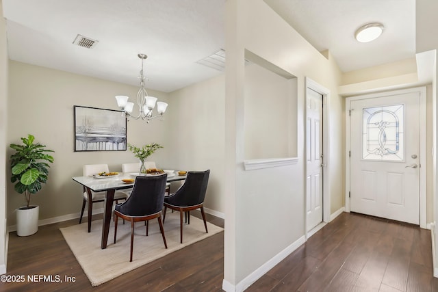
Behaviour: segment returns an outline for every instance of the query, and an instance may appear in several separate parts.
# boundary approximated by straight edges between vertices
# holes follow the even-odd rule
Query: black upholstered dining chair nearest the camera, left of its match
[[[134,223],[157,218],[159,230],[162,233],[164,247],[167,248],[166,237],[161,219],[164,202],[164,189],[166,189],[167,174],[157,176],[137,176],[133,185],[131,196],[122,204],[114,207],[114,243],[117,237],[117,219],[123,218],[131,222],[131,254],[129,261],[132,261]],[[148,235],[149,224],[146,224],[146,236]]]

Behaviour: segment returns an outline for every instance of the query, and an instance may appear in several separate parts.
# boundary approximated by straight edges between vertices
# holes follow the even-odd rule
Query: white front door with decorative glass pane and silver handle
[[[420,92],[351,101],[350,211],[420,224]]]

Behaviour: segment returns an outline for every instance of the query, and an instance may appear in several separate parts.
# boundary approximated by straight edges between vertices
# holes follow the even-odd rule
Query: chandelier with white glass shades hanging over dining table
[[[137,92],[137,105],[138,105],[138,115],[132,115],[134,103],[128,102],[128,96],[118,95],[116,96],[117,105],[121,110],[125,112],[125,116],[129,118],[134,118],[138,120],[142,118],[142,120],[146,120],[149,123],[149,120],[153,118],[162,117],[164,120],[163,114],[166,111],[168,106],[167,103],[163,103],[162,101],[158,101],[158,98],[149,96],[148,92],[146,92],[146,88],[144,88],[144,75],[143,75],[143,61],[148,56],[144,54],[138,54],[138,57],[142,60],[142,69],[140,70],[140,90]],[[157,112],[156,116],[153,116],[153,109],[155,108],[155,103],[157,104]]]

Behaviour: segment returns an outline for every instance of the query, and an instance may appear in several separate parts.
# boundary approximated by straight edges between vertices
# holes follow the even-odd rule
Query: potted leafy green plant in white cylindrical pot
[[[15,183],[14,189],[18,194],[24,194],[27,205],[16,210],[16,233],[18,236],[33,235],[38,231],[38,206],[31,206],[30,198],[36,194],[49,175],[49,163],[53,157],[47,152],[45,145],[34,143],[35,137],[27,135],[22,137],[23,144],[10,144],[15,150],[11,155],[11,182]]]

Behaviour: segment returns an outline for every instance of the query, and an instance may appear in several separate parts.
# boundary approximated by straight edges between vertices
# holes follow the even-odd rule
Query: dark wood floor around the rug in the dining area
[[[191,213],[200,217],[196,211]],[[206,215],[212,224],[224,226],[224,220]],[[93,220],[99,217],[93,216]],[[70,276],[75,277],[75,282],[0,282],[0,291],[222,291],[223,232],[92,287],[59,230],[77,221],[40,226],[38,233],[30,237],[10,233],[7,274],[26,278],[27,275],[60,275],[62,280]]]

